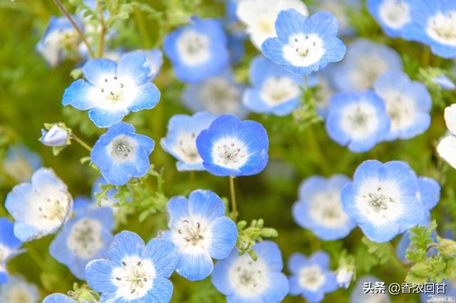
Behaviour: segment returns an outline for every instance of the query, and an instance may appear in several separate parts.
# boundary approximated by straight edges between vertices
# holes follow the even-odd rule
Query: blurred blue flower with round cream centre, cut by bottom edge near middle
[[[289,292],[289,283],[281,273],[284,267],[279,246],[271,241],[252,248],[257,261],[234,249],[226,259],[215,264],[212,284],[227,296],[229,303],[281,302]]]

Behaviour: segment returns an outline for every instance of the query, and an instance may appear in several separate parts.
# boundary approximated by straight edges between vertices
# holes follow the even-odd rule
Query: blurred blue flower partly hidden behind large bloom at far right
[[[311,176],[303,181],[292,210],[296,223],[323,240],[345,238],[356,227],[342,210],[341,191],[348,182],[350,179],[343,175],[330,179]]]

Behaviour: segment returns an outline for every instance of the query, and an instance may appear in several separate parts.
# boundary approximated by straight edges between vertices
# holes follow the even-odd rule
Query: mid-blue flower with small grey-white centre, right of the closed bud
[[[149,137],[135,134],[133,125],[120,122],[95,142],[90,159],[108,183],[120,186],[133,177],[147,174],[154,146],[155,142]]]

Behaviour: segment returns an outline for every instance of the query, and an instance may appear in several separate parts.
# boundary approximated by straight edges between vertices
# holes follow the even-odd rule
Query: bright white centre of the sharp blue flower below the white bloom
[[[323,41],[315,33],[297,33],[289,37],[282,51],[284,58],[299,67],[312,65],[324,55]]]

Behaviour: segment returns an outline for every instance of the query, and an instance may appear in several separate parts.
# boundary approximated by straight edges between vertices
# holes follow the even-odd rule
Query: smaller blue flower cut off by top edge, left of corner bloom
[[[411,0],[368,0],[367,3],[369,12],[390,37],[400,36],[404,26],[412,21],[414,5]]]

